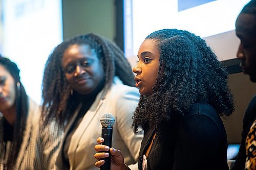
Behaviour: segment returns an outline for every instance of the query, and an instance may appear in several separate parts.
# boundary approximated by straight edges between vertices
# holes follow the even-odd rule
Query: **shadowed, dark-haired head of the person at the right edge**
[[[245,74],[256,82],[256,16],[240,13],[236,21],[236,33],[240,39],[237,57]]]

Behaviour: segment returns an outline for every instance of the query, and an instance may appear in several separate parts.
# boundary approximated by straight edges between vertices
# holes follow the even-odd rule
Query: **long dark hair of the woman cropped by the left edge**
[[[23,132],[26,128],[26,121],[28,116],[28,96],[25,91],[23,84],[20,82],[19,69],[17,65],[11,60],[2,57],[0,55],[0,65],[4,66],[5,69],[10,72],[15,82],[15,108],[16,108],[16,120],[13,129],[13,146],[11,155],[7,161],[7,167],[12,168],[16,163],[20,145],[23,141]],[[10,133],[4,131],[4,133]]]

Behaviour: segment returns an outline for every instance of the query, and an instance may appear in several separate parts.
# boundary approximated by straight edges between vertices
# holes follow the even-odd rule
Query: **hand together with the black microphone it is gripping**
[[[115,118],[110,113],[105,113],[100,118],[102,125],[101,137],[97,139],[97,145],[94,149],[97,151],[94,157],[98,160],[95,166],[100,167],[101,170],[122,170],[127,169],[124,164],[124,158],[121,151],[112,147],[112,134]],[[112,155],[112,159],[111,159]]]

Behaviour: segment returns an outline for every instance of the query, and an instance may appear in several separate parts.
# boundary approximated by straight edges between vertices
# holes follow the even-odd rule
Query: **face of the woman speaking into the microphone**
[[[136,74],[136,87],[140,94],[152,94],[152,88],[156,83],[159,69],[160,52],[151,39],[146,39],[140,45],[137,65],[133,68]]]

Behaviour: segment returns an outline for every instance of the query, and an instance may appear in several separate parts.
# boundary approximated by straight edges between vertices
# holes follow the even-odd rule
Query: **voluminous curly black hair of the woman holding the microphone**
[[[153,32],[160,52],[158,77],[151,95],[141,95],[134,113],[138,127],[159,129],[174,115],[183,116],[195,102],[207,102],[220,115],[234,110],[227,72],[206,42],[195,34],[176,29]]]

